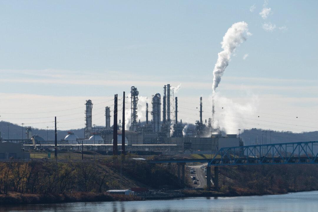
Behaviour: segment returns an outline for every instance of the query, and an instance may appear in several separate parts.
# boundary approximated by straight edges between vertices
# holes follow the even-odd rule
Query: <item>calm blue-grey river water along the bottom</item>
[[[135,202],[83,202],[0,206],[0,211],[54,211],[54,212],[312,212],[318,211],[318,191],[248,197],[184,198]]]

